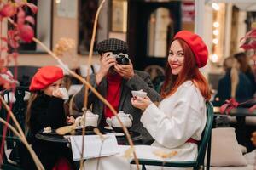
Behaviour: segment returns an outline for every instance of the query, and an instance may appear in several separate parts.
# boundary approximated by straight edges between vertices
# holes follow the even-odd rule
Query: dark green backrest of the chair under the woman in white
[[[207,147],[207,144],[211,142],[211,136],[212,136],[213,106],[210,102],[207,102],[206,105],[207,105],[207,123],[204,129],[204,132],[201,135],[201,142],[199,144],[198,156],[196,160],[199,165],[204,165],[204,158],[206,156],[207,149],[208,149],[208,152],[211,152],[210,150],[211,147],[209,147],[209,145]]]

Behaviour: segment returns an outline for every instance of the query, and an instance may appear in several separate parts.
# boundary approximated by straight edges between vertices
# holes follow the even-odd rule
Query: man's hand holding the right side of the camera
[[[129,62],[129,65],[114,65],[114,71],[119,73],[119,75],[125,79],[130,79],[134,76],[134,70],[131,61]]]

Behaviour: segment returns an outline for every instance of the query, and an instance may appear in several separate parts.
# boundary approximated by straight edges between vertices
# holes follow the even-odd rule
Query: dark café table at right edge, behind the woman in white
[[[246,117],[256,116],[256,111],[250,112],[248,108],[234,108],[227,113],[220,113],[220,107],[213,107],[214,116],[236,116],[236,137],[239,144],[247,145]]]

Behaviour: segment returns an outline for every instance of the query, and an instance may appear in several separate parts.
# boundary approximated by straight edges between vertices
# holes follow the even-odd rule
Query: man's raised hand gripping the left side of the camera
[[[101,57],[100,71],[96,74],[96,83],[100,84],[102,78],[105,77],[108,73],[108,70],[113,65],[116,65],[116,60],[112,56],[108,56],[110,52],[104,53]]]

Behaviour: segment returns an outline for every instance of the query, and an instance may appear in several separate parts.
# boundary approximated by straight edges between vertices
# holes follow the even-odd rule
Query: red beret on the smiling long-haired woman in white
[[[207,65],[208,49],[207,45],[202,41],[201,37],[190,31],[179,31],[175,35],[174,39],[182,39],[188,43],[189,47],[195,54],[196,65],[199,68]]]

